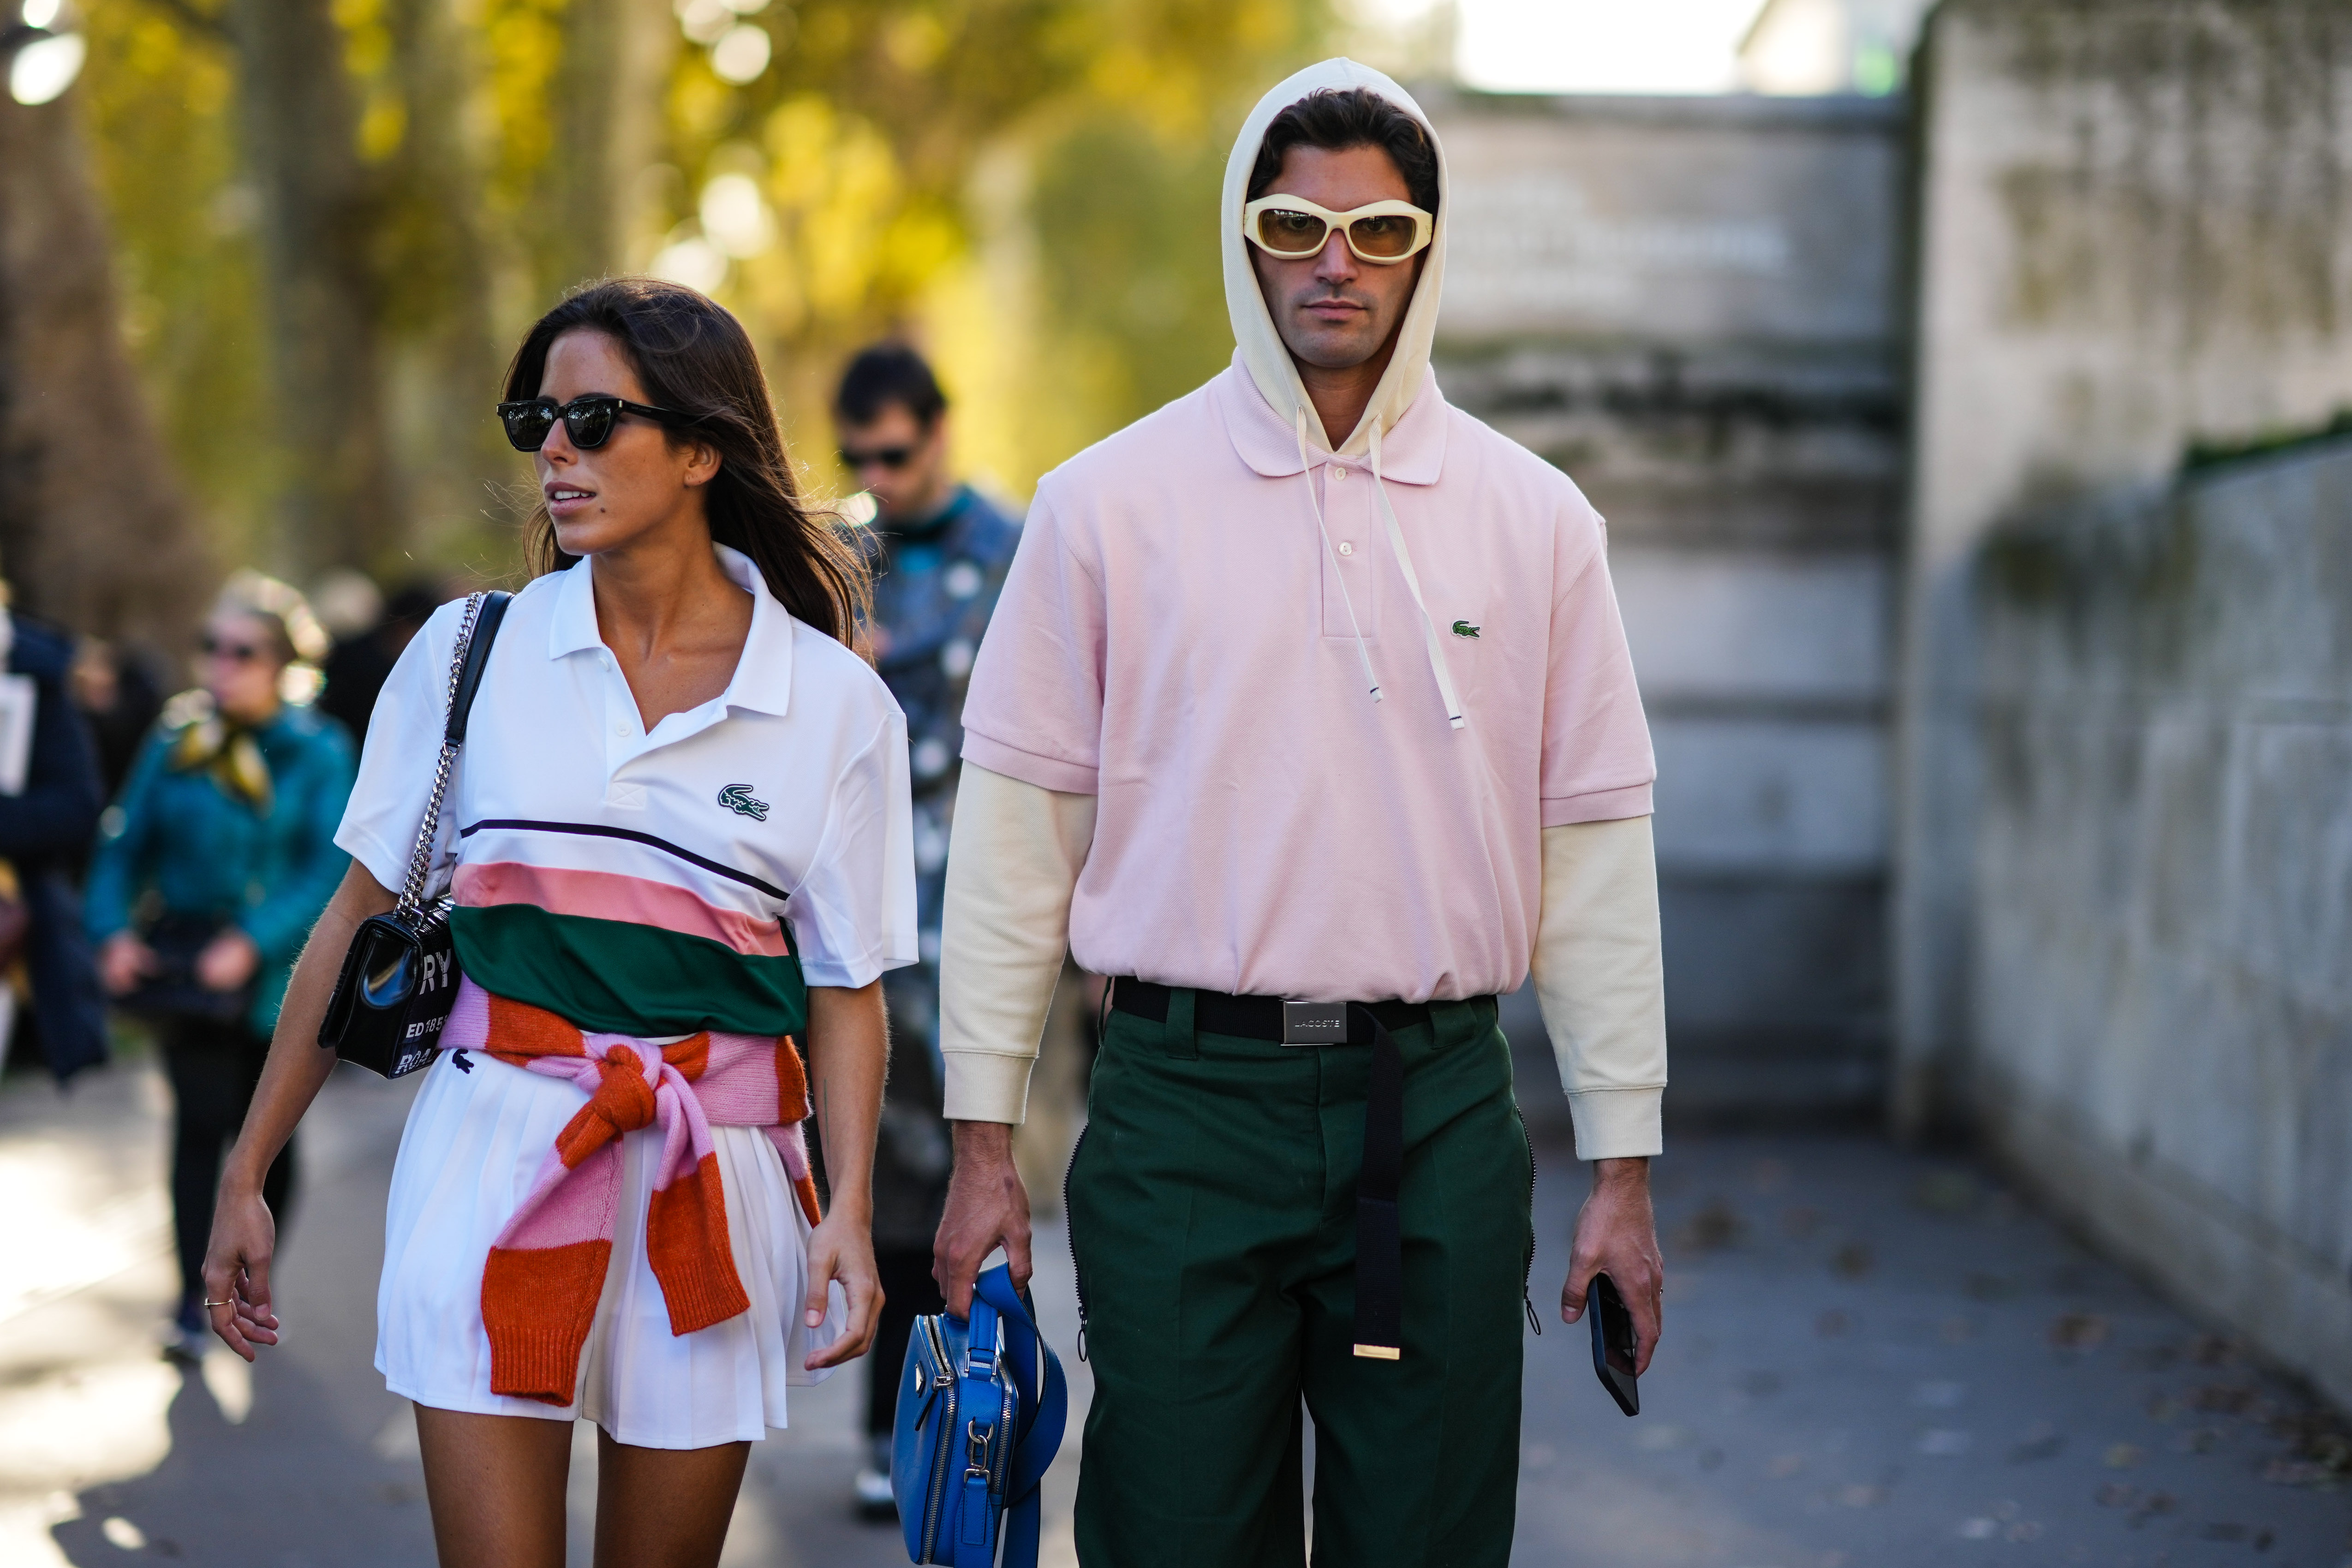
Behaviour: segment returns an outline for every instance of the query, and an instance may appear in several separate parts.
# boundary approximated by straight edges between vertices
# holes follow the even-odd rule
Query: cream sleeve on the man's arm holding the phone
[[[1665,964],[1649,818],[1543,830],[1536,1001],[1569,1091],[1578,1159],[1661,1150]]]

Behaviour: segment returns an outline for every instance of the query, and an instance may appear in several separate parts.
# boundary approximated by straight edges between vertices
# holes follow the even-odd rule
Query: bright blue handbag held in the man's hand
[[[971,1319],[915,1319],[898,1380],[889,1486],[915,1563],[1037,1568],[1037,1486],[1061,1450],[1070,1389],[1030,1305],[997,1265]]]

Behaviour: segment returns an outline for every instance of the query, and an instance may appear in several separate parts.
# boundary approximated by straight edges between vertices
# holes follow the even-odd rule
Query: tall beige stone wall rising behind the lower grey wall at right
[[[2352,7],[1945,0],[1919,96],[1896,1119],[1962,1110],[1985,536],[2352,404]]]

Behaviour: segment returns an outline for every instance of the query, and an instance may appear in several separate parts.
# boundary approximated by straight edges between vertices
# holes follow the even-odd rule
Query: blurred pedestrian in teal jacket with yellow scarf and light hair
[[[172,1079],[172,1234],[179,1309],[167,1347],[205,1349],[205,1239],[221,1152],[261,1081],[294,954],[343,875],[334,825],[350,741],[287,703],[325,635],[289,585],[230,578],[205,623],[202,684],[165,705],[89,863],[87,929],[106,990],[155,1023]],[[268,1173],[294,1197],[294,1150]]]

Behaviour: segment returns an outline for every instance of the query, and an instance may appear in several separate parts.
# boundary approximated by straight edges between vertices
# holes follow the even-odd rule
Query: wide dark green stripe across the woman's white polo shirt
[[[532,903],[459,907],[449,931],[475,985],[609,1034],[800,1034],[809,987],[795,957]]]

